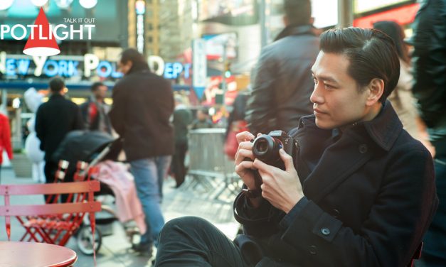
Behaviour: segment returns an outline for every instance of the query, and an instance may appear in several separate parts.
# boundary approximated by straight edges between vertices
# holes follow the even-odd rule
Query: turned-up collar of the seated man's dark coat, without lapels
[[[299,122],[299,128],[317,128],[314,120],[314,115],[302,117]],[[395,143],[400,132],[403,130],[403,124],[401,124],[395,109],[393,109],[391,102],[388,100],[386,100],[383,108],[375,119],[360,122],[346,131],[358,131],[360,127],[366,129],[368,136],[373,142],[385,151],[390,151],[393,143]]]

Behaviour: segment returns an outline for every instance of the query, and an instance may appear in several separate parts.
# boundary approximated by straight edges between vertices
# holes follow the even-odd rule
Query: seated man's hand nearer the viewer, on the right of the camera
[[[288,213],[304,197],[304,193],[292,157],[280,149],[280,158],[285,163],[285,170],[267,165],[257,158],[253,167],[262,177],[262,197],[277,209]]]

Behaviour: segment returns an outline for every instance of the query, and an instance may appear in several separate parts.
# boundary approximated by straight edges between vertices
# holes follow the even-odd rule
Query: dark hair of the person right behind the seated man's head
[[[386,33],[395,43],[398,57],[406,63],[410,63],[408,49],[404,43],[405,34],[403,28],[395,21],[378,21],[373,23],[373,28]]]

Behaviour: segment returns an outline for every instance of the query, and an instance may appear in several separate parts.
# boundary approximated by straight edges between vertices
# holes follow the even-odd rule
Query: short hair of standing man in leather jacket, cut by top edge
[[[284,0],[283,9],[288,22],[293,26],[307,25],[312,18],[310,0]]]

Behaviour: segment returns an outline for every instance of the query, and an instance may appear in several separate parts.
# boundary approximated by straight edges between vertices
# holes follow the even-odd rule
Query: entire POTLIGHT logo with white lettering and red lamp
[[[0,40],[4,40],[6,33],[9,33],[15,40],[23,40],[28,36],[23,53],[33,57],[58,55],[60,48],[57,40],[75,40],[75,37],[83,40],[84,32],[86,32],[87,39],[91,40],[94,24],[80,24],[76,27],[73,23],[94,23],[95,18],[64,18],[64,21],[72,24],[69,26],[65,24],[51,25],[41,8],[34,24],[26,26],[16,24],[12,27],[1,25]]]

